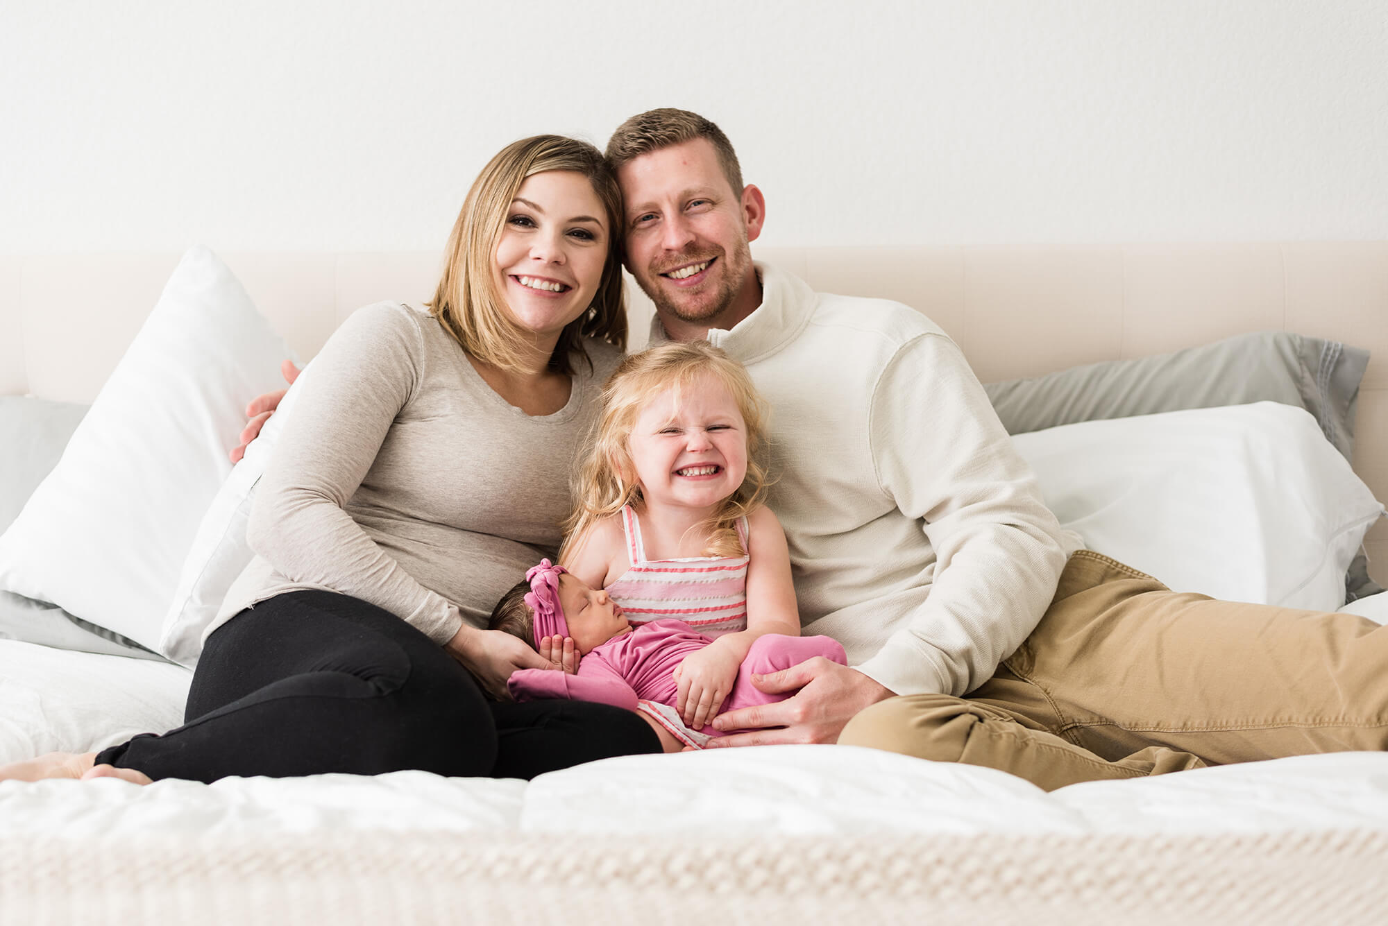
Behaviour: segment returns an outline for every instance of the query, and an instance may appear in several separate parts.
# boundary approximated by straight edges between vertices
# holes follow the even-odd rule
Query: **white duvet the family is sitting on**
[[[1385,599],[1346,610],[1381,618]],[[189,672],[0,640],[0,762],[180,722]],[[515,779],[233,778],[215,785],[0,782],[0,836],[520,833],[1228,833],[1388,829],[1388,754],[1227,765],[1044,793],[985,768],[840,746],[636,755]]]

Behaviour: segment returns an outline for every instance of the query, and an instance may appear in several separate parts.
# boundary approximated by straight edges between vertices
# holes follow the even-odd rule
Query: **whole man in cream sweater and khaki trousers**
[[[763,690],[799,690],[720,715],[751,732],[716,747],[837,740],[1051,789],[1388,746],[1388,631],[1174,595],[1070,556],[1081,545],[940,329],[752,263],[765,198],[718,126],[654,110],[607,155],[652,338],[706,337],[770,402],[770,506],[804,629],[838,639],[852,665],[765,676]]]

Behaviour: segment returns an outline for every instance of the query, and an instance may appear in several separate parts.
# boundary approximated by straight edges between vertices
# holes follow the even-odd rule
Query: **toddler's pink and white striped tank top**
[[[741,556],[691,556],[648,560],[641,523],[627,505],[622,509],[626,553],[632,567],[607,586],[633,625],[677,618],[708,636],[747,629],[747,563]],[[737,536],[747,546],[747,518],[737,518]]]

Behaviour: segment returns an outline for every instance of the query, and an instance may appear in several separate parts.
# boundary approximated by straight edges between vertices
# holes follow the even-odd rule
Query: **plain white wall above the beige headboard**
[[[1388,238],[1382,0],[6,0],[0,251],[434,250],[657,105],[773,245]]]

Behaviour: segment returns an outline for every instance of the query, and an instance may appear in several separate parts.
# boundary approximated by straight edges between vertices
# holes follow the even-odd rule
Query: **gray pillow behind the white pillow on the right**
[[[1369,351],[1287,331],[1260,331],[1133,360],[988,383],[984,390],[1009,434],[1060,424],[1281,402],[1306,409],[1326,439],[1351,459],[1355,406]],[[1381,592],[1363,550],[1345,574],[1346,600]]]

